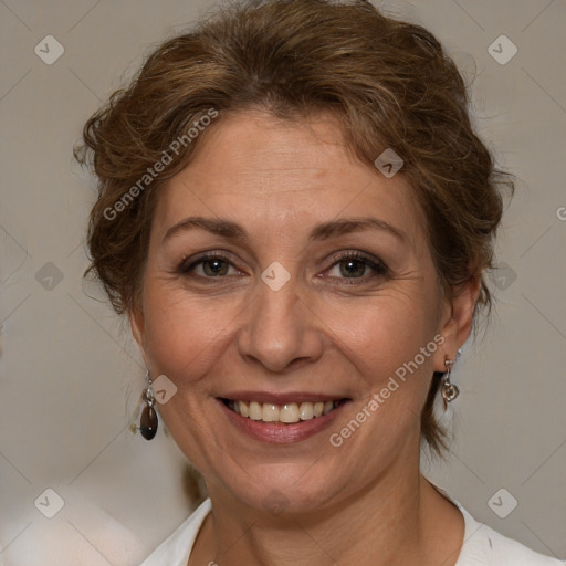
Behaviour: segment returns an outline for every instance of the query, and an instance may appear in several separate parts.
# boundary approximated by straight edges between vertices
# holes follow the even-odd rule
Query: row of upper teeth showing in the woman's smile
[[[338,401],[317,402],[290,402],[285,405],[273,405],[271,402],[256,401],[229,401],[228,406],[242,417],[264,422],[298,422],[311,420],[315,417],[328,415],[338,406]]]

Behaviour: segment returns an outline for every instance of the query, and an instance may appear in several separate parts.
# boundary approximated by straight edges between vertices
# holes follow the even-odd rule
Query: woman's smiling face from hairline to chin
[[[132,313],[153,378],[177,387],[159,406],[177,443],[211,494],[268,510],[418,465],[458,333],[411,188],[331,117],[240,113],[206,135],[159,189]]]

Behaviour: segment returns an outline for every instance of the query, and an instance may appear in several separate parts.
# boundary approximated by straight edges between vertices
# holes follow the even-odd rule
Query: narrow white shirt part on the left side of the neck
[[[205,500],[140,566],[186,566],[199,528],[210,510],[210,500]]]

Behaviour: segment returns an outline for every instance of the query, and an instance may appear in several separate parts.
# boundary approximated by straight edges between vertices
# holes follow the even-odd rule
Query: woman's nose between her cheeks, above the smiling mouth
[[[240,355],[250,364],[284,374],[316,361],[324,350],[323,324],[298,296],[292,277],[279,291],[258,283],[238,337]]]

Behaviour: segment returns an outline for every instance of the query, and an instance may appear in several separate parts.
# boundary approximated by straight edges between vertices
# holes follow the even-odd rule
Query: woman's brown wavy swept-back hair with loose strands
[[[474,133],[468,106],[464,82],[439,41],[363,0],[218,8],[156,49],[84,127],[75,156],[92,165],[99,190],[86,274],[99,279],[117,313],[138,306],[157,189],[190,163],[207,132],[178,144],[175,156],[171,143],[211,108],[218,118],[210,128],[223,114],[250,108],[289,120],[327,112],[363,161],[374,164],[386,148],[402,157],[401,175],[421,206],[450,296],[492,266],[501,189],[513,190],[511,176],[495,168]],[[174,158],[149,179],[165,154]],[[476,307],[484,306],[491,295],[482,275]],[[441,377],[434,374],[421,416],[422,439],[437,452],[447,439],[432,409]]]

